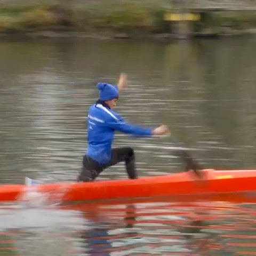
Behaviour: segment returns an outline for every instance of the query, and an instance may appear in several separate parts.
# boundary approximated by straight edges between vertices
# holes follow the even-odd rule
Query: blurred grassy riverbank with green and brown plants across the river
[[[30,36],[138,37],[177,33],[177,24],[164,20],[173,11],[168,1],[3,1],[0,33]],[[254,33],[255,12],[200,12],[189,33],[234,35]],[[255,33],[256,34],[256,33]]]

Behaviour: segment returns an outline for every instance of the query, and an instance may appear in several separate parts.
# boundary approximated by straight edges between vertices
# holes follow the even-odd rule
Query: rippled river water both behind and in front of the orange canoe
[[[1,42],[1,183],[23,183],[26,176],[46,183],[74,181],[86,149],[87,108],[98,97],[95,85],[116,83],[121,71],[127,73],[129,86],[116,110],[127,121],[169,125],[206,168],[254,168],[255,53],[255,39],[249,38]],[[173,156],[176,145],[171,138],[116,134],[114,146],[135,149],[140,177],[184,169]],[[118,164],[99,180],[126,177],[123,164]],[[184,205],[161,200],[68,209],[30,206],[2,206],[2,241],[13,245],[0,242],[0,255],[15,255],[14,251],[34,256],[253,255],[245,251],[255,251],[254,204]],[[207,216],[199,218],[198,212],[205,209]],[[196,226],[203,222],[203,233],[191,229],[195,221]],[[238,250],[244,239],[247,244]]]

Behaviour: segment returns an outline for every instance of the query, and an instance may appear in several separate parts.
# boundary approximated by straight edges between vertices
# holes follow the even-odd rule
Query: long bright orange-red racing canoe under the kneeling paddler
[[[256,191],[256,170],[205,169],[202,172],[202,180],[189,171],[136,180],[52,183],[30,187],[2,185],[0,201],[17,201],[28,188],[39,193],[47,193],[49,199],[59,201]]]

